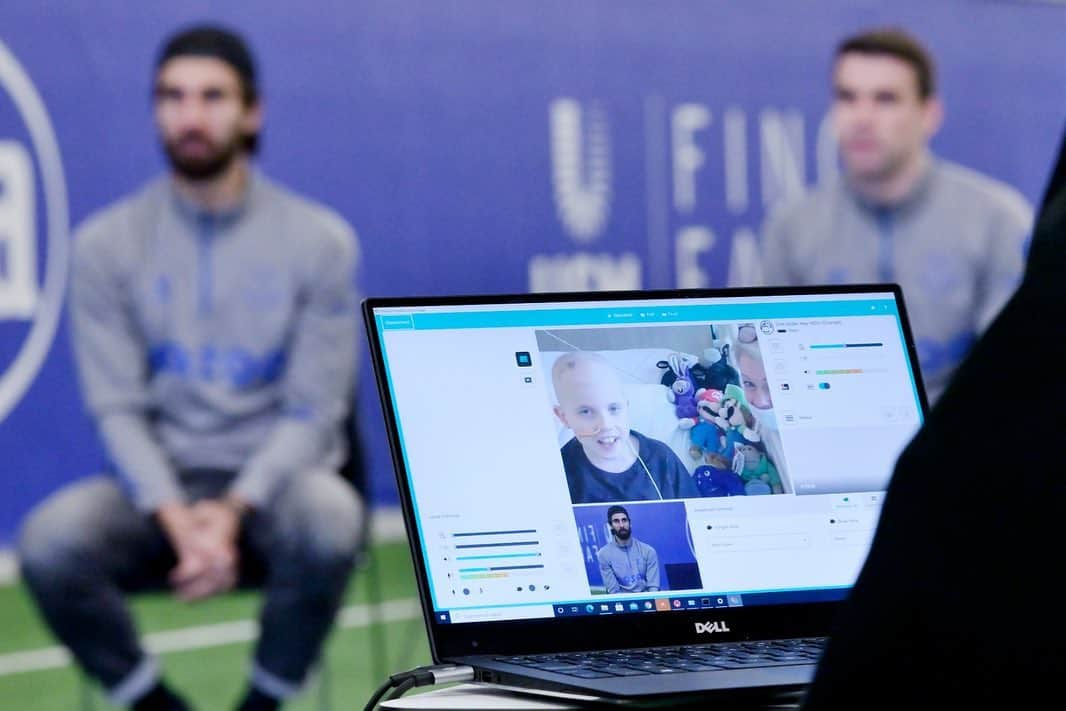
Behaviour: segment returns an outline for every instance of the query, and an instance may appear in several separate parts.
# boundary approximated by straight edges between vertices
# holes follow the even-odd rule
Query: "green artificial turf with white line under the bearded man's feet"
[[[345,605],[368,603],[368,593],[377,576],[382,599],[417,598],[410,556],[405,542],[378,545],[368,567],[354,575]],[[176,630],[216,623],[254,619],[259,604],[256,593],[235,593],[197,604],[185,604],[165,594],[136,596],[134,616],[142,633]],[[383,679],[373,678],[374,668],[393,673],[430,662],[421,615],[386,623],[383,650],[375,648],[370,627],[337,628],[326,644],[326,669],[308,684],[304,696],[286,709],[312,711],[320,708],[355,709],[364,704]],[[56,643],[44,628],[25,587],[0,587],[0,656],[31,651]],[[249,643],[232,643],[161,657],[164,675],[194,708],[225,711],[233,707],[243,690],[249,658]],[[68,711],[86,708],[110,711],[114,707],[86,684],[74,666],[0,676],[0,710]],[[325,702],[325,705],[323,705]]]

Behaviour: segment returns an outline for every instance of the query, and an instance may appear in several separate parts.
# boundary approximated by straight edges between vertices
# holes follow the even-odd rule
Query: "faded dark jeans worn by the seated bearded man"
[[[215,470],[181,474],[189,501],[217,497],[230,481],[232,473]],[[351,575],[364,515],[337,474],[312,471],[292,476],[244,519],[240,585],[264,592],[253,666],[253,681],[264,691],[294,693],[318,659]],[[95,476],[59,490],[29,514],[18,555],[45,620],[85,672],[117,701],[146,691],[157,673],[124,594],[166,588],[177,559],[156,519],[136,511],[115,480]]]

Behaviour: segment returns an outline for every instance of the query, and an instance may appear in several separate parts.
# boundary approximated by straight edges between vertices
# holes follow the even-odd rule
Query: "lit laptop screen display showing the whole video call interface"
[[[921,424],[891,293],[375,323],[442,624],[842,599]]]

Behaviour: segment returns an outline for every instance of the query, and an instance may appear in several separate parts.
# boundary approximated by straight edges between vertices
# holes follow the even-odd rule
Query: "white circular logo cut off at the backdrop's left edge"
[[[0,320],[32,322],[11,365],[0,373],[0,422],[14,409],[48,356],[63,310],[66,288],[66,181],[59,143],[45,104],[18,60],[0,42],[0,90],[26,124],[45,194],[47,261],[38,286],[32,161],[26,148],[0,136]],[[29,175],[29,180],[13,179]],[[6,179],[5,179],[6,178]]]

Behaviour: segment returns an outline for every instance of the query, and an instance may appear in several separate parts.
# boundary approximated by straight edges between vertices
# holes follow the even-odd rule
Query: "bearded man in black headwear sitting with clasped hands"
[[[75,243],[80,383],[110,475],[52,495],[19,558],[43,616],[116,704],[187,709],[138,641],[124,593],[264,588],[239,708],[276,709],[317,660],[359,543],[337,469],[356,344],[352,229],[253,168],[262,124],[245,43],[172,36],[155,116],[169,174]]]

